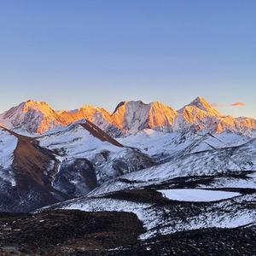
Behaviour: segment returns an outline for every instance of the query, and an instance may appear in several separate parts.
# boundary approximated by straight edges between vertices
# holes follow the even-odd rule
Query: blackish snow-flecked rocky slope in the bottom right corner
[[[256,255],[255,238],[254,227],[188,230],[156,236],[104,255]]]

